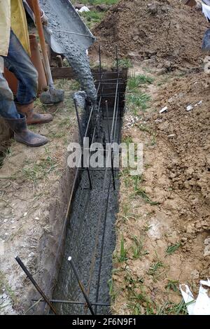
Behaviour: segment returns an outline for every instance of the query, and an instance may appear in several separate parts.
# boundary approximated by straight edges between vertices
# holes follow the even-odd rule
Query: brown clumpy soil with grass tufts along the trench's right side
[[[130,75],[146,74],[144,64]],[[186,314],[179,283],[197,297],[210,276],[209,75],[151,72],[154,82],[141,87],[150,106],[134,114],[127,103],[123,125],[125,140],[144,144],[144,173],[121,174],[113,314]]]

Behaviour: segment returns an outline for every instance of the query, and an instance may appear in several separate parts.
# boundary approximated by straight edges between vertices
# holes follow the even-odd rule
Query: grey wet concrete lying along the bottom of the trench
[[[106,127],[103,128],[107,134]],[[120,138],[120,122],[118,122],[117,132],[116,141]],[[117,175],[116,172],[116,177]],[[116,190],[113,190],[110,170],[106,177],[104,171],[92,171],[91,179],[92,190],[90,190],[87,172],[81,174],[80,184],[73,198],[69,226],[66,232],[64,260],[53,299],[84,302],[76,277],[67,261],[71,256],[85,289],[87,291],[88,288],[90,289],[91,302],[110,304],[108,281],[111,279],[112,254],[115,248],[114,224],[118,212],[118,180],[116,180]],[[96,242],[97,235],[99,237],[98,243]],[[96,243],[96,260],[90,278]],[[101,274],[99,274],[101,253],[102,269]],[[57,310],[59,314],[85,314],[85,307],[78,305],[59,304]],[[90,314],[89,311],[87,314]],[[109,307],[97,307],[97,314],[109,314]]]

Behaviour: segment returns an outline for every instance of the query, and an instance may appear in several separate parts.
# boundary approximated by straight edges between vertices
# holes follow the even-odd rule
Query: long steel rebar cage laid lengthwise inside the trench
[[[116,127],[117,127],[117,122],[118,122],[118,118],[121,118],[121,116],[118,115],[119,113],[119,102],[120,102],[120,95],[123,94],[124,92],[122,92],[120,90],[120,86],[123,85],[123,83],[120,82],[120,80],[122,80],[122,78],[120,78],[120,73],[123,73],[123,71],[119,71],[119,63],[118,63],[118,49],[116,48],[116,65],[117,65],[117,71],[116,72],[106,72],[106,77],[109,76],[110,74],[112,75],[116,75],[117,78],[105,78],[104,77],[104,73],[102,73],[102,62],[101,62],[101,54],[100,54],[100,50],[99,50],[99,63],[100,63],[100,67],[99,67],[99,73],[94,73],[94,76],[97,77],[99,76],[99,80],[97,80],[97,83],[98,83],[98,86],[97,86],[97,94],[98,94],[98,99],[99,99],[99,102],[98,102],[98,107],[97,107],[97,113],[99,113],[99,111],[101,110],[104,110],[106,108],[103,107],[103,102],[105,101],[104,97],[109,97],[109,98],[114,98],[114,106],[113,106],[113,117],[112,117],[112,124],[111,124],[111,133],[109,132],[109,136],[110,136],[110,139],[111,141],[115,141],[116,139]],[[103,78],[105,78],[103,80]],[[111,93],[108,93],[108,90],[111,89],[106,87],[106,82],[107,83],[110,83],[112,84],[111,82],[113,81],[113,85],[116,85],[116,90],[115,92],[111,92]],[[114,83],[115,82],[115,83]],[[107,90],[107,93],[104,92],[104,87],[106,87],[106,90]],[[121,108],[120,108],[120,111],[121,111]],[[103,111],[104,112],[104,111]],[[85,135],[84,137],[87,137],[87,133],[88,133],[88,130],[89,130],[89,127],[90,127],[90,123],[91,123],[91,120],[92,120],[92,115],[94,113],[94,109],[93,109],[93,106],[91,107],[90,109],[90,116],[87,120],[87,127],[86,127],[86,130],[85,130]],[[78,111],[77,111],[77,117],[78,117]],[[109,123],[109,113],[107,114],[106,112],[106,117],[107,117],[107,123]],[[96,123],[98,122],[99,118],[97,117],[96,119]],[[94,141],[94,138],[95,138],[95,133],[96,133],[96,123],[95,123],[95,126],[94,126],[94,131],[93,131],[93,134],[92,134],[92,142]],[[81,130],[81,127],[80,127],[80,120],[79,120],[79,117],[78,117],[78,129],[80,131],[80,137],[83,136],[82,134],[82,130]],[[83,139],[82,139],[83,140]],[[112,152],[112,156],[113,156],[113,152]],[[88,168],[87,168],[88,169]],[[71,188],[71,194],[70,194],[70,200],[69,200],[69,204],[68,204],[68,209],[67,209],[67,212],[66,212],[66,217],[64,219],[64,222],[63,222],[63,225],[62,225],[62,235],[60,236],[60,239],[59,239],[59,246],[58,246],[58,249],[57,249],[57,255],[56,255],[56,259],[55,259],[55,264],[57,262],[57,258],[58,258],[58,255],[59,255],[59,250],[60,250],[60,247],[61,247],[61,244],[62,244],[62,237],[64,235],[64,230],[65,230],[65,227],[66,227],[66,222],[68,220],[68,214],[69,214],[69,211],[70,211],[70,207],[71,207],[71,200],[72,200],[72,196],[73,196],[73,190],[76,186],[76,180],[78,178],[78,172],[80,172],[80,170],[83,170],[83,169],[80,169],[80,168],[77,168],[76,169],[76,176],[74,178],[74,181],[73,181],[73,186]],[[85,170],[85,169],[84,169]],[[91,169],[90,169],[91,170]],[[101,170],[101,169],[99,169]],[[92,175],[94,174],[94,171],[95,169],[91,170],[92,172]],[[90,300],[90,305],[93,305],[95,306],[95,311],[97,313],[97,307],[100,306],[100,303],[98,303],[98,298],[99,298],[99,286],[100,286],[100,276],[101,276],[101,271],[102,271],[102,259],[103,259],[103,252],[104,252],[104,237],[105,237],[105,231],[106,231],[106,213],[107,213],[107,209],[108,209],[108,204],[109,204],[109,195],[110,195],[110,183],[111,183],[111,180],[109,182],[109,193],[107,195],[107,198],[106,200],[104,199],[104,193],[105,193],[105,187],[106,187],[106,179],[107,179],[107,174],[108,172],[110,171],[110,169],[108,168],[105,168],[104,169],[104,183],[103,183],[103,188],[102,188],[102,193],[101,193],[101,199],[103,200],[103,203],[102,203],[102,209],[100,211],[100,214],[99,214],[99,218],[98,218],[98,223],[97,223],[97,232],[96,232],[96,236],[95,236],[95,245],[94,245],[94,249],[93,249],[93,253],[92,253],[92,260],[91,260],[91,266],[90,266],[90,274],[89,274],[89,280],[88,280],[88,285],[87,285],[87,293],[86,293],[86,297],[87,299],[89,300],[89,295],[90,295],[90,285],[91,285],[91,282],[92,282],[92,274],[93,274],[93,269],[94,269],[94,265],[95,265],[95,261],[96,261],[96,258],[97,258],[97,247],[98,247],[98,244],[99,244],[99,226],[100,226],[100,223],[102,221],[102,215],[105,214],[105,218],[104,218],[104,226],[103,226],[103,232],[102,232],[102,244],[101,244],[101,252],[100,252],[100,256],[99,256],[99,272],[98,272],[98,281],[97,281],[97,294],[96,294],[96,302],[95,303],[91,303]],[[113,169],[112,169],[113,171]],[[114,170],[113,172],[115,172],[116,170]],[[89,172],[89,170],[87,171]],[[112,174],[113,174],[112,172]],[[88,179],[90,180],[90,172],[89,172],[89,175],[88,175]],[[85,190],[85,181],[83,182],[83,186],[82,186],[82,190]],[[90,193],[90,192],[88,192]],[[83,195],[83,193],[82,193]],[[84,202],[83,200],[83,197],[81,195],[81,200],[80,202]],[[87,200],[85,202],[86,206],[85,208],[87,207],[87,201],[88,201],[88,195],[87,195]],[[104,208],[105,208],[105,211],[104,211]],[[80,216],[83,216],[83,214],[80,214]],[[83,223],[83,221],[81,221]],[[51,285],[52,285],[52,278],[54,276],[54,272],[55,272],[55,264],[54,264],[54,267],[53,267],[53,270],[52,270],[52,275],[50,277],[50,282],[49,282],[49,285],[48,285],[48,289],[47,289],[47,292],[49,291],[49,289],[51,288]],[[73,301],[57,301],[57,302],[66,302],[67,304],[73,304]],[[81,302],[82,303],[82,302]],[[78,302],[78,304],[80,304],[80,302]],[[82,303],[81,305],[84,305],[87,307],[87,304],[85,303]],[[109,307],[108,304],[103,304],[102,306],[107,306]],[[92,310],[93,311],[93,310]]]

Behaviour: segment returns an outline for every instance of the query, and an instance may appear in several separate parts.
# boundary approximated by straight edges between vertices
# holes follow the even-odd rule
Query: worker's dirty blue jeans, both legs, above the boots
[[[18,79],[18,92],[15,102],[29,104],[36,98],[38,73],[31,59],[22,47],[17,36],[11,30],[8,55],[3,56],[4,66]],[[0,116],[3,118],[20,118],[14,102],[13,92],[0,72]]]

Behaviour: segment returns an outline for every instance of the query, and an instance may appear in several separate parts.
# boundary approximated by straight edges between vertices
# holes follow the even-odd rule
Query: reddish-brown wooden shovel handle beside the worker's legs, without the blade
[[[37,31],[38,31],[39,41],[40,41],[40,45],[41,45],[41,52],[42,52],[42,55],[43,55],[45,73],[46,73],[46,76],[48,78],[49,88],[52,89],[53,88],[53,80],[52,80],[52,73],[51,73],[51,70],[50,70],[50,62],[49,62],[49,59],[48,59],[48,52],[47,52],[46,45],[45,45],[45,36],[44,36],[44,33],[43,33],[43,25],[42,25],[42,22],[41,22],[41,15],[40,15],[41,10],[40,10],[40,7],[39,7],[38,0],[33,0],[32,3],[33,3],[33,8],[34,8],[34,16],[35,16],[35,20],[36,20],[36,28],[37,28]]]

